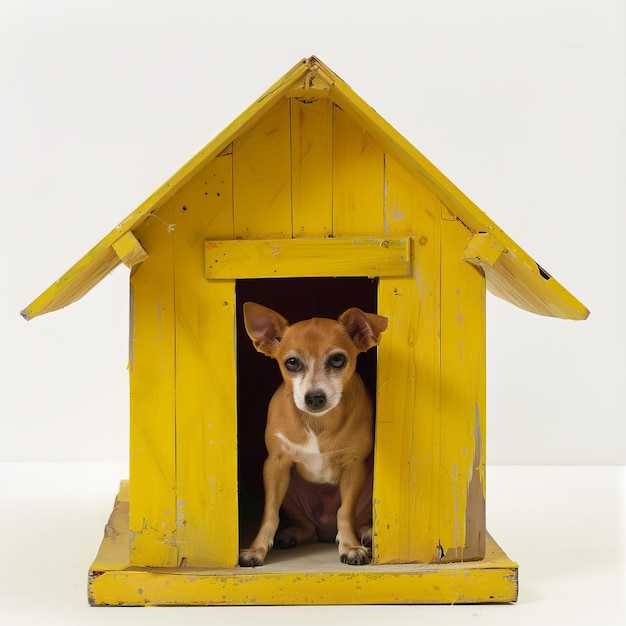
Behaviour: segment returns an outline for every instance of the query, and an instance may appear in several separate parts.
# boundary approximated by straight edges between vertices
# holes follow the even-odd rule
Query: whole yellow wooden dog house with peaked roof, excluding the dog
[[[130,464],[89,572],[94,605],[509,602],[485,524],[486,289],[586,308],[318,59],[298,63],[22,312],[130,271]],[[375,393],[373,561],[334,546],[237,565],[256,529],[278,368],[245,300],[290,321],[389,317]],[[372,351],[373,352],[373,351]]]

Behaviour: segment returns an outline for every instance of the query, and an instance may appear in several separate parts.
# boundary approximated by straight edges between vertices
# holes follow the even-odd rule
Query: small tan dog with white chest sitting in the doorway
[[[239,565],[262,565],[275,545],[336,541],[341,562],[371,561],[373,404],[356,360],[378,345],[388,319],[350,308],[338,320],[289,325],[244,304],[254,347],[278,362],[283,383],[270,400],[259,531]],[[277,534],[282,506],[290,525]]]

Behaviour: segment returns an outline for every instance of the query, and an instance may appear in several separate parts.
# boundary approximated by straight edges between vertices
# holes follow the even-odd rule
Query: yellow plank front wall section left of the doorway
[[[131,276],[131,563],[237,562],[234,282],[204,280],[232,239],[232,150],[148,217]]]

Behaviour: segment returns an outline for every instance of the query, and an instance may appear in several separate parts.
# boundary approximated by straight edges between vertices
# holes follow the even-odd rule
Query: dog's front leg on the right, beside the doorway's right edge
[[[370,549],[357,539],[355,529],[357,504],[367,474],[365,462],[353,461],[343,468],[339,478],[341,506],[337,511],[337,543],[339,558],[348,565],[366,565],[372,560]]]

